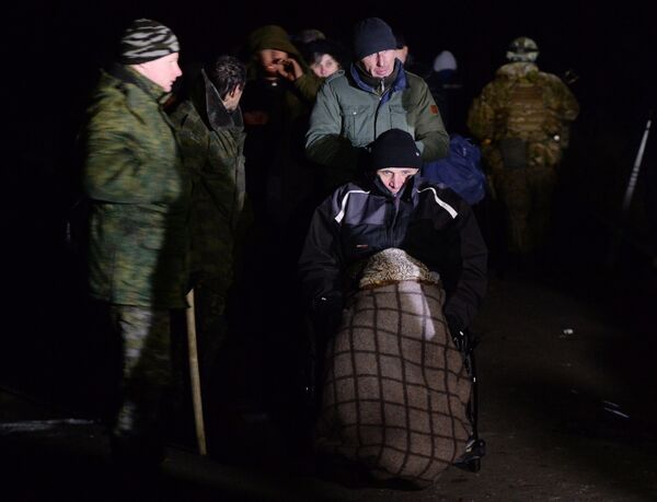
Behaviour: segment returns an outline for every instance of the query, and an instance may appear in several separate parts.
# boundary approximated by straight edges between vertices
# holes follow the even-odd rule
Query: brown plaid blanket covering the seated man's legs
[[[328,342],[318,450],[380,480],[437,480],[465,451],[471,380],[439,284],[384,281],[356,292]]]

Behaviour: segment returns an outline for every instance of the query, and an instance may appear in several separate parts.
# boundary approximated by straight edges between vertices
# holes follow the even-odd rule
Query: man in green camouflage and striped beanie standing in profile
[[[120,63],[102,71],[83,135],[89,287],[100,324],[122,346],[113,452],[143,465],[162,455],[170,314],[186,306],[192,184],[162,108],[182,74],[177,38],[140,19],[120,48]]]

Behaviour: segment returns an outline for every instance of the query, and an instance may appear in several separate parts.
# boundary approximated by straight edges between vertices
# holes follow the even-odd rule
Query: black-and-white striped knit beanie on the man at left
[[[120,39],[120,62],[139,65],[181,50],[173,32],[157,21],[139,19]]]

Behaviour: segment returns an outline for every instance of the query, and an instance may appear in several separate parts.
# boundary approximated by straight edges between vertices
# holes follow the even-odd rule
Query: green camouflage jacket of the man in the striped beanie
[[[114,304],[185,306],[192,184],[162,89],[129,67],[102,72],[83,144],[90,198],[92,296]]]

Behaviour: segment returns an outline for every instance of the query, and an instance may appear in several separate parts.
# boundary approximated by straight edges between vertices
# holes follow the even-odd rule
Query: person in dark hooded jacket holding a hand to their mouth
[[[247,190],[258,221],[285,232],[313,183],[303,136],[322,80],[280,26],[253,31],[247,50],[249,86],[242,102]]]

